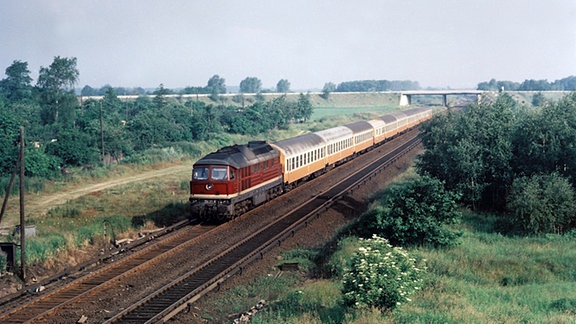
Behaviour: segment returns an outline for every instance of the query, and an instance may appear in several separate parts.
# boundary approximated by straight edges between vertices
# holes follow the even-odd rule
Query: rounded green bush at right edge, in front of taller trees
[[[563,233],[576,226],[574,188],[558,173],[514,181],[508,200],[513,223],[527,233]]]

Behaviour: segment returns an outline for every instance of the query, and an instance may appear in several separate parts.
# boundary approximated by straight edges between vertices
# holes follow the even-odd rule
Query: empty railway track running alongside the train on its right
[[[298,228],[306,226],[309,220],[319,217],[323,210],[328,209],[347,192],[361,186],[373,174],[392,164],[419,143],[419,136],[413,135],[391,153],[351,174],[320,195],[312,197],[285,217],[158,289],[106,323],[155,323],[170,319],[226,279],[241,272],[243,267],[262,257],[267,250],[280,244]]]

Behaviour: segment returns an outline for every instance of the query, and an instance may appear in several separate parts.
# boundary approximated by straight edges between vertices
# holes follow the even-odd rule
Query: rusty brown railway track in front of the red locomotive
[[[140,271],[152,263],[162,262],[176,251],[186,248],[190,242],[200,239],[212,228],[193,226],[188,230],[178,231],[161,241],[150,243],[148,247],[74,280],[60,289],[5,310],[0,314],[0,323],[42,320],[62,307],[73,307],[78,300],[90,298],[91,293],[116,285],[123,277]]]

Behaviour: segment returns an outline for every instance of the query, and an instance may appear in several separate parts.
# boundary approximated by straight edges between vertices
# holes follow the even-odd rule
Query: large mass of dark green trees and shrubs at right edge
[[[536,108],[519,107],[501,94],[494,102],[437,116],[424,131],[419,172],[462,193],[464,203],[509,212],[517,222],[504,222],[508,230],[520,225],[531,233],[565,232],[576,226],[576,93]],[[542,210],[547,205],[552,212],[559,204],[552,192],[567,200],[558,205],[562,215]]]

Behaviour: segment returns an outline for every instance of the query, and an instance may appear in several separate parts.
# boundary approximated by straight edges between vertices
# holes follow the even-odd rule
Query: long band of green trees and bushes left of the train
[[[101,100],[79,100],[76,58],[55,57],[41,67],[35,85],[28,64],[14,61],[0,80],[0,177],[8,176],[18,157],[20,126],[26,130],[26,174],[59,176],[62,168],[97,165],[103,160],[138,160],[150,149],[175,147],[185,153],[190,143],[223,132],[258,135],[312,114],[308,95],[280,96],[242,108],[168,97],[160,85],[133,101],[119,99],[117,89],[103,89]],[[289,83],[284,81],[284,86]],[[208,82],[212,93],[225,91],[224,79]],[[216,89],[217,90],[213,90]],[[124,93],[121,93],[124,94]],[[104,145],[102,145],[104,143]]]

